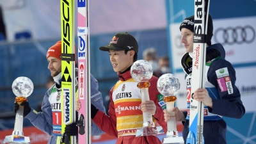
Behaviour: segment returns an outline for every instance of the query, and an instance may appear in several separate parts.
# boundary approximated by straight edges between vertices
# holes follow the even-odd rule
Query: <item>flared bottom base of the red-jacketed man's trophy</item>
[[[163,134],[163,127],[143,127],[141,129],[137,129],[136,137],[138,136],[156,136],[156,134]]]

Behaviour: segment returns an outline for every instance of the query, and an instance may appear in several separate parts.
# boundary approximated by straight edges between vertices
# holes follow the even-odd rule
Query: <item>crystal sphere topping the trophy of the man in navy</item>
[[[164,96],[174,96],[180,89],[180,81],[174,74],[163,74],[157,81],[157,90]]]

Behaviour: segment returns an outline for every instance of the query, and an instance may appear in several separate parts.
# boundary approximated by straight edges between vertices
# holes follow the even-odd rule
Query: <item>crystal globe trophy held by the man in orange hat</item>
[[[12,83],[12,91],[17,96],[15,101],[17,104],[27,100],[27,97],[33,92],[34,86],[28,77],[17,77]],[[24,136],[23,127],[23,111],[24,106],[19,106],[15,117],[14,130],[11,136],[4,138],[4,143],[30,143],[29,137]]]

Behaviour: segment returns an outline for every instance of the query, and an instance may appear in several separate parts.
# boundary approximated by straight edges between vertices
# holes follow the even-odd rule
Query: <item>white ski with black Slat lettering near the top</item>
[[[198,88],[205,88],[205,55],[210,1],[195,0],[194,45],[187,144],[204,144],[204,104],[193,99]],[[206,30],[205,30],[206,29]]]

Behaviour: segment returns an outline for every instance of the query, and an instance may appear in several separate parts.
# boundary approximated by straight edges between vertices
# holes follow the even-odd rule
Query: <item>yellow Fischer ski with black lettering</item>
[[[61,13],[61,133],[76,122],[76,74],[74,47],[74,0],[60,1]],[[60,141],[57,141],[60,143]],[[70,136],[76,143],[76,136]],[[67,143],[66,143],[67,144]]]

